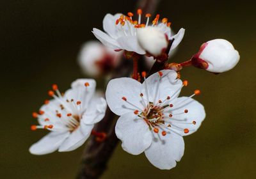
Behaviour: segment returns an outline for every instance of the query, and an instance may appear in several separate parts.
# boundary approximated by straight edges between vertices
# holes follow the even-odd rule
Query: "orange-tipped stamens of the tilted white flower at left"
[[[84,83],[87,89],[90,84],[88,82]],[[73,132],[80,125],[81,117],[84,110],[81,107],[81,101],[75,101],[73,98],[64,98],[64,93],[61,93],[56,84],[52,85],[52,90],[48,91],[48,95],[57,100],[60,105],[58,109],[51,109],[51,111],[38,111],[38,113],[32,113],[33,118],[38,118],[39,120],[44,120],[45,125],[31,125],[31,130],[36,130],[38,128],[43,128],[51,131],[69,130]],[[45,100],[44,104],[49,105],[49,100]],[[54,113],[54,114],[52,114]],[[55,117],[52,117],[55,116]],[[56,121],[58,120],[58,121]],[[62,123],[63,127],[55,127],[54,123]]]

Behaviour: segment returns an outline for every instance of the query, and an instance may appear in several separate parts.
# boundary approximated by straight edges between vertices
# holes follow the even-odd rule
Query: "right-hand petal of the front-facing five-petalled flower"
[[[184,113],[184,110],[187,109],[188,113]],[[168,111],[167,111],[168,113]],[[181,120],[179,122],[175,122],[170,118],[170,121],[173,121],[173,125],[181,128],[181,130],[175,130],[182,136],[188,136],[196,132],[196,130],[200,127],[202,121],[205,118],[205,110],[204,106],[194,100],[193,98],[188,97],[180,97],[173,101],[173,108],[171,109],[171,113],[173,113],[173,117],[177,120]],[[179,114],[179,115],[175,115]],[[193,124],[193,121],[196,124]],[[186,124],[190,123],[190,124]],[[175,127],[174,127],[175,128]],[[188,128],[189,132],[187,134],[184,133],[184,128]]]

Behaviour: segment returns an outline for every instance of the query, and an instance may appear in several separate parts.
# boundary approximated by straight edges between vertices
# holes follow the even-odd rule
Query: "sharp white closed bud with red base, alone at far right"
[[[214,73],[226,72],[239,61],[239,53],[227,40],[215,39],[204,43],[198,54],[193,56],[193,65],[205,66],[205,70]],[[206,65],[204,63],[207,63]]]

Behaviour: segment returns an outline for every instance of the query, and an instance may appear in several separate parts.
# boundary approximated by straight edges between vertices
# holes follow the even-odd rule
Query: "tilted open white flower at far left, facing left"
[[[52,100],[45,100],[39,113],[33,113],[40,125],[31,130],[44,128],[51,132],[29,148],[35,155],[44,155],[56,150],[68,152],[81,146],[90,136],[95,123],[102,120],[106,100],[95,97],[96,82],[93,79],[77,79],[71,89],[61,94],[54,84],[49,91]]]

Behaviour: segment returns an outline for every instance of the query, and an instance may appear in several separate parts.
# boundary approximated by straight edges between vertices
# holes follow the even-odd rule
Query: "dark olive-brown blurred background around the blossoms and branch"
[[[45,131],[32,132],[31,113],[47,98],[52,83],[65,91],[83,77],[77,65],[81,45],[102,29],[106,13],[134,10],[136,1],[0,2],[1,147],[0,178],[74,178],[84,146],[68,153],[31,155],[28,148]],[[186,29],[172,61],[184,61],[214,38],[232,42],[239,64],[224,74],[187,68],[184,95],[195,88],[207,117],[185,137],[177,167],[161,171],[146,157],[129,155],[120,144],[102,178],[255,178],[256,176],[256,10],[253,1],[161,1],[157,13]]]

